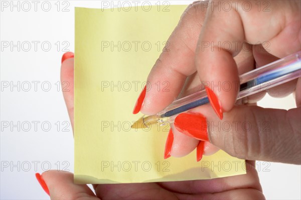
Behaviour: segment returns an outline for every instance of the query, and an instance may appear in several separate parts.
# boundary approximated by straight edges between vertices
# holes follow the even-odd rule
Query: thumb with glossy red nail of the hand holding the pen
[[[175,126],[185,130],[182,131],[184,134],[190,133],[191,136],[198,138],[207,130],[212,144],[242,159],[301,163],[300,107],[283,110],[259,106],[234,106],[225,112],[223,120],[215,115],[210,106],[194,111],[197,113],[186,113],[186,119],[191,118],[190,121],[193,121],[193,117],[198,117],[205,123],[194,125],[194,128],[183,127],[184,123],[179,121],[181,119],[179,114],[175,119]],[[206,118],[200,117],[199,113]],[[177,123],[182,126],[177,127]],[[196,127],[200,130],[196,131]],[[191,129],[193,131],[190,131]]]

